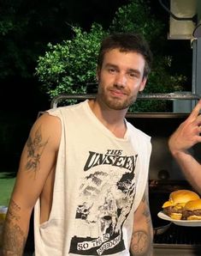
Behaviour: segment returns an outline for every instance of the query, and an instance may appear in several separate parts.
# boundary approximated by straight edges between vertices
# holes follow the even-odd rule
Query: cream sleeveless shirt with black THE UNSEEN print
[[[36,256],[130,255],[133,214],[145,192],[151,137],[127,124],[115,137],[88,101],[48,111],[62,137],[50,218],[34,208]]]

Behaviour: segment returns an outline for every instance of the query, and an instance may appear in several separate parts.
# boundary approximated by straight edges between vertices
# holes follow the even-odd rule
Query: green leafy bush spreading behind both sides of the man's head
[[[146,1],[146,3],[149,3]],[[49,52],[38,58],[36,75],[50,99],[58,94],[84,94],[86,84],[96,82],[96,64],[99,43],[111,32],[136,32],[143,34],[151,46],[154,63],[145,93],[170,93],[182,90],[185,76],[171,75],[172,57],[164,55],[166,41],[163,23],[157,21],[147,8],[145,0],[131,0],[119,8],[107,31],[97,23],[86,33],[80,27],[72,27],[72,40],[62,44],[49,44]],[[160,47],[158,47],[160,43]],[[171,111],[167,101],[137,101],[129,111]]]

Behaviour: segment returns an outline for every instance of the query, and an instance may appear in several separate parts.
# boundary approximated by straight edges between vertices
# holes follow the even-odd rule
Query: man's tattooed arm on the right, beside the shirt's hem
[[[152,256],[153,228],[149,207],[148,185],[144,197],[134,213],[131,255]]]

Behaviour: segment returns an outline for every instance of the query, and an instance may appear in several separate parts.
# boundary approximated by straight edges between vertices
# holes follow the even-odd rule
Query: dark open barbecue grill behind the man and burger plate
[[[152,137],[149,188],[151,217],[156,231],[154,256],[201,255],[201,227],[178,226],[157,216],[162,210],[163,203],[168,200],[170,192],[178,189],[193,190],[168,151],[168,137],[187,115],[187,113],[148,113],[136,114],[130,118],[133,125]],[[200,161],[201,146],[195,146],[192,154]]]

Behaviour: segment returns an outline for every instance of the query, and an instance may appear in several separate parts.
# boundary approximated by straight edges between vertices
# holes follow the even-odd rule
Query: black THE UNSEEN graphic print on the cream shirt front
[[[125,249],[122,227],[135,196],[137,159],[116,149],[89,152],[69,253],[111,255]]]

